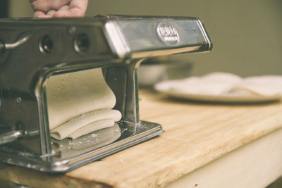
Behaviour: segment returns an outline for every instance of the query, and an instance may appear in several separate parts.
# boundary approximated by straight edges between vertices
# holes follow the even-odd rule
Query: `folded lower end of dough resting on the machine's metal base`
[[[51,137],[64,139],[66,137],[77,138],[95,130],[111,127],[118,120],[121,120],[121,112],[117,110],[98,110],[85,113],[77,118],[68,120],[59,127],[51,130]]]

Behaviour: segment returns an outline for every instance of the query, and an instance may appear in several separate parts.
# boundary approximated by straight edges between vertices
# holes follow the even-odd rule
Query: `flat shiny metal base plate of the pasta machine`
[[[6,146],[0,146],[0,161],[47,173],[64,173],[144,142],[162,132],[164,130],[157,123],[130,123],[121,120],[114,127],[98,130],[77,139],[52,139],[52,153],[46,156],[7,150]]]

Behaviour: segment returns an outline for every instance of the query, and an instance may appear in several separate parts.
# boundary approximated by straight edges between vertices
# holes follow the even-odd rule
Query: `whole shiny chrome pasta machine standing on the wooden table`
[[[44,172],[66,172],[161,134],[161,125],[139,119],[137,68],[149,57],[211,49],[197,18],[1,19],[0,161]],[[83,77],[85,71],[97,69],[114,93],[114,110],[121,113],[121,120],[75,139],[54,139],[47,94],[51,78],[73,73],[83,73]],[[80,101],[75,104],[75,94],[86,88],[86,81],[73,85],[78,89],[72,87],[71,93],[66,90],[75,106],[80,105]],[[60,84],[63,81],[58,88]],[[106,100],[99,102],[104,105]],[[54,105],[61,108],[65,104]],[[90,101],[87,106],[92,105]]]

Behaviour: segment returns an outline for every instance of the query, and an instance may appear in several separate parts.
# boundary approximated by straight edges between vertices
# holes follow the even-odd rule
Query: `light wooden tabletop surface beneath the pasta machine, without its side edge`
[[[64,175],[0,165],[0,179],[32,187],[164,187],[281,128],[282,104],[194,103],[143,89],[140,119],[166,132]]]

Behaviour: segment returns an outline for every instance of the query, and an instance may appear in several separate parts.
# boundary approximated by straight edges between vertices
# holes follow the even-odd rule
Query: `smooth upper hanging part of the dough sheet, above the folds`
[[[83,113],[116,104],[101,68],[51,76],[46,89],[50,130]]]

